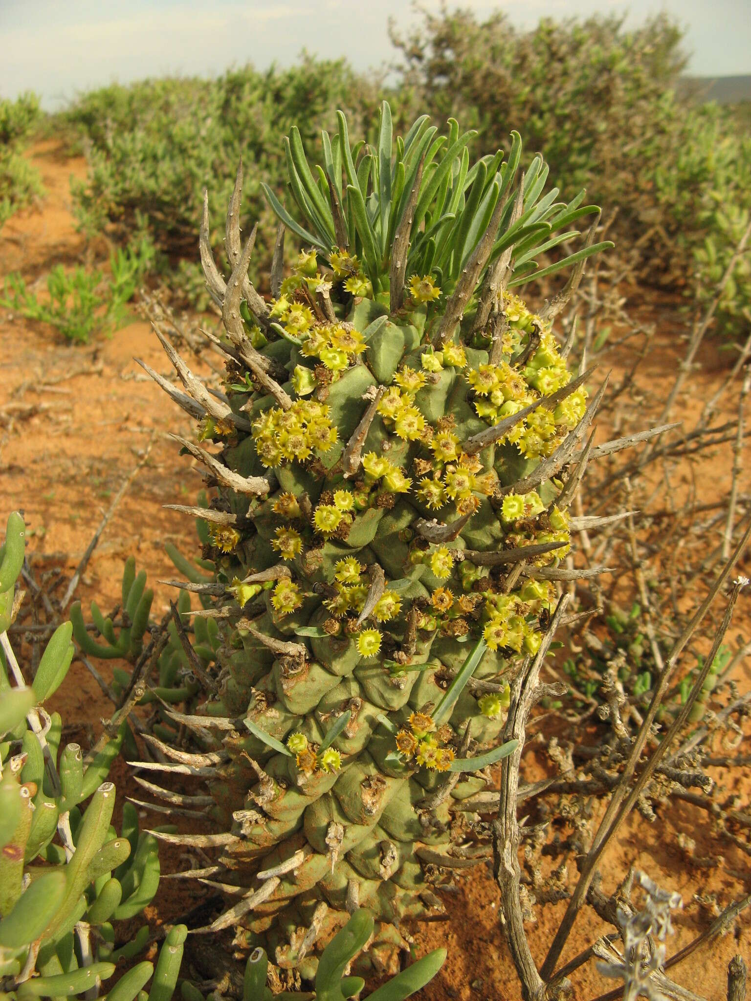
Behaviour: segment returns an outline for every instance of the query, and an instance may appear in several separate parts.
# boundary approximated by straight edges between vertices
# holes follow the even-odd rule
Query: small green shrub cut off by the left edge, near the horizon
[[[0,100],[0,227],[42,193],[39,173],[21,155],[40,115],[35,94]]]

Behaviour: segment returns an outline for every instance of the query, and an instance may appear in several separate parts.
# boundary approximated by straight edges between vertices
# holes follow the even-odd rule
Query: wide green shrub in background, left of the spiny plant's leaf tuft
[[[76,215],[85,230],[106,229],[122,240],[146,230],[172,264],[193,262],[203,189],[213,203],[225,203],[242,157],[246,213],[261,223],[253,259],[267,269],[273,227],[269,236],[262,225],[270,215],[260,181],[276,187],[284,174],[278,136],[298,121],[303,141],[317,151],[320,125],[336,107],[349,109],[358,124],[374,119],[373,86],[341,60],[310,58],[288,70],[245,67],[213,81],[146,80],[84,95],[64,116],[88,140],[89,175],[73,189]],[[183,273],[176,287],[194,300],[203,283]]]

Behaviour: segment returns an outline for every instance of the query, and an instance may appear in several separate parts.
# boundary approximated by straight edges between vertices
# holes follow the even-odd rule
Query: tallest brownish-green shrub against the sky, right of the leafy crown
[[[481,22],[469,10],[425,12],[409,37],[393,33],[421,108],[477,128],[481,153],[519,129],[564,194],[587,186],[629,219],[675,131],[680,39],[662,15],[634,31],[617,17],[518,31],[504,14]]]

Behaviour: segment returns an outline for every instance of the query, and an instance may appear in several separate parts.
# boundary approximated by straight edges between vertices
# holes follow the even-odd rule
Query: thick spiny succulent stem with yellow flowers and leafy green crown
[[[477,854],[462,802],[515,746],[509,682],[556,602],[601,396],[588,404],[552,331],[609,245],[594,243],[599,210],[544,194],[548,169],[535,156],[520,171],[518,134],[507,158],[470,166],[472,135],[423,116],[395,139],[385,103],[376,148],[352,149],[339,113],[311,170],[292,129],[293,206],[265,190],[280,220],[270,300],[248,277],[241,167],[227,280],[204,199],[224,392],[159,332],[185,391],[153,375],[198,419],[202,443],[178,440],[213,488],[182,510],[208,526],[214,576],[191,590],[210,596],[221,642],[215,691],[170,713],[199,750],[165,740],[181,764],[148,767],[205,781],[223,832],[159,837],[216,852],[197,875],[234,902],[211,929],[303,977],[358,905],[377,921],[359,965],[391,968],[410,922],[441,907],[432,885]],[[579,250],[539,266],[593,214]],[[285,231],[303,245],[286,276]],[[512,291],[564,267],[539,313]]]

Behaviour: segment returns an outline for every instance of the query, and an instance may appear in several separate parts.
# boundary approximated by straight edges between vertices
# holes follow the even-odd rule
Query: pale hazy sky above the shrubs
[[[423,0],[438,10],[440,0]],[[456,6],[454,3],[451,7]],[[687,29],[689,72],[751,73],[748,0],[465,0],[479,18],[505,11],[519,27],[629,11],[630,24],[666,11]],[[77,90],[145,76],[215,74],[230,66],[293,63],[302,48],[358,69],[395,58],[388,18],[409,0],[0,0],[0,96],[24,90],[48,109]]]

